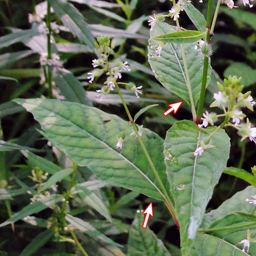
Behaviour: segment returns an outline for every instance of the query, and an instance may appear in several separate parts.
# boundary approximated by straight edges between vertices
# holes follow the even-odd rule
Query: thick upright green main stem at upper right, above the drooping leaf
[[[207,44],[209,44],[209,42],[210,42],[211,13],[212,13],[212,0],[208,0],[207,21],[206,21],[206,29],[207,29],[206,42],[207,42]],[[201,92],[200,92],[200,98],[199,98],[198,109],[197,109],[197,121],[196,121],[197,123],[200,122],[200,118],[203,114],[204,97],[205,97],[205,89],[206,89],[207,73],[208,73],[208,63],[209,63],[209,57],[205,56],[204,57]]]

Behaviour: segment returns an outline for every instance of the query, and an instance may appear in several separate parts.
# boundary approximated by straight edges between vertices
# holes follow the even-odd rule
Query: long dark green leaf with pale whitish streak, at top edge
[[[94,50],[94,36],[81,13],[69,2],[63,2],[61,0],[49,1],[56,15],[69,28],[70,32]]]

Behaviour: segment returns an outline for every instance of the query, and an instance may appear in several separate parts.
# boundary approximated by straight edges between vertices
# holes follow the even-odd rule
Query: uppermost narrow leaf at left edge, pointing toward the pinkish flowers
[[[0,48],[7,47],[20,42],[26,38],[31,38],[32,36],[39,34],[37,29],[26,29],[18,30],[17,32],[10,33],[0,37]]]

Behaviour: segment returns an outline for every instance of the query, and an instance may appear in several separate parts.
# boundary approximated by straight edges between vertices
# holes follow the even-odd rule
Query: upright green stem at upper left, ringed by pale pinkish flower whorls
[[[51,33],[52,33],[52,29],[51,29],[51,6],[50,6],[50,2],[49,0],[47,1],[47,17],[46,17],[46,26],[49,30],[49,33],[47,35],[47,52],[48,52],[48,56],[47,59],[51,59],[52,58],[52,48],[51,48]],[[48,70],[48,91],[49,91],[49,98],[53,99],[53,94],[52,94],[52,72],[50,70],[49,65],[47,66],[47,70]]]

